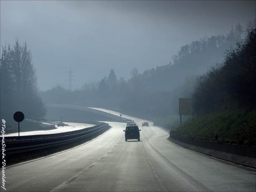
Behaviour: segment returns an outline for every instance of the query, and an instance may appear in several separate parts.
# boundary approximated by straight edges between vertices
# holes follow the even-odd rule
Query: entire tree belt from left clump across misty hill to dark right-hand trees
[[[38,92],[27,42],[21,45],[16,38],[12,49],[2,46],[1,118],[11,122],[20,110],[25,118],[40,121],[47,112],[45,103],[102,107],[152,120],[178,115],[179,98],[195,98],[196,113],[233,103],[250,105],[255,103],[253,42],[255,22],[247,30],[238,23],[225,35],[181,46],[167,65],[142,73],[131,69],[128,80],[117,78],[111,69],[99,82],[85,83],[80,89],[57,85]]]

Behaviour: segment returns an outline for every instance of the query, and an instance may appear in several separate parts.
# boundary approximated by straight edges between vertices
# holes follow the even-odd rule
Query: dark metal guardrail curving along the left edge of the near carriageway
[[[74,142],[92,136],[106,128],[109,128],[108,123],[99,123],[93,127],[64,133],[5,137],[5,154],[17,154]]]

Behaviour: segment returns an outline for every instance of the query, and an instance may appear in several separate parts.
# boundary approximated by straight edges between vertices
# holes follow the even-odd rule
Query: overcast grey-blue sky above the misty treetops
[[[98,82],[114,69],[169,64],[182,45],[255,19],[256,1],[0,1],[0,42],[27,42],[40,90]],[[2,48],[1,48],[2,54]]]

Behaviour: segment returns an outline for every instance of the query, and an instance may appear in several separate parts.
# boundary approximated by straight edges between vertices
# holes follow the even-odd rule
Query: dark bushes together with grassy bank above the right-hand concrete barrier
[[[194,116],[171,133],[192,139],[256,146],[256,24],[225,60],[197,77]]]

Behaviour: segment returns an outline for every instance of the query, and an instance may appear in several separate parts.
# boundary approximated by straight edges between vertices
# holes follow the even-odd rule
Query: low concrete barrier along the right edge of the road
[[[256,168],[256,146],[209,142],[170,134],[169,141],[182,147],[240,165]]]

